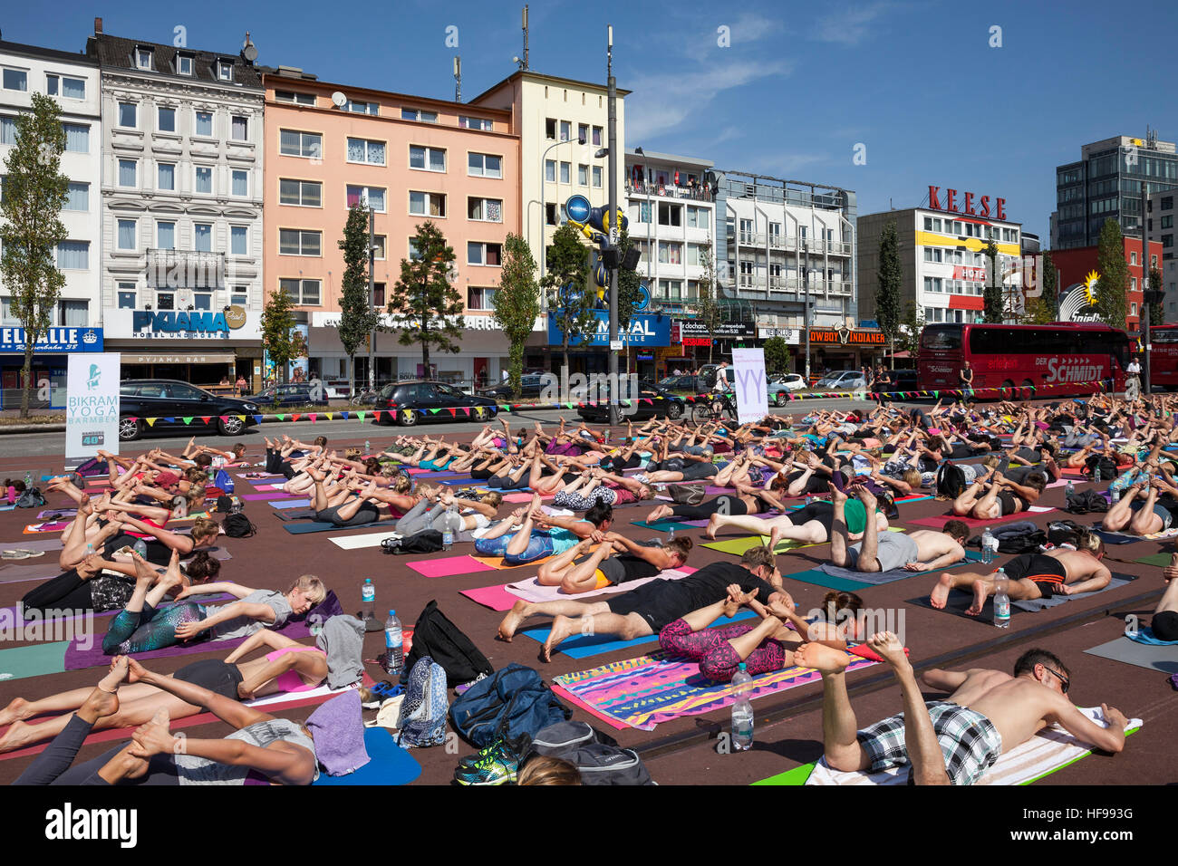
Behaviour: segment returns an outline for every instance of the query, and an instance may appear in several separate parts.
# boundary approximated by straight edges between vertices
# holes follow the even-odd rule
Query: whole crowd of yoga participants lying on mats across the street
[[[264,454],[194,439],[179,454],[99,451],[85,476],[67,471],[44,485],[67,523],[60,574],[24,587],[20,603],[46,616],[101,617],[105,667],[93,687],[55,692],[49,676],[6,683],[19,696],[0,709],[0,753],[47,743],[22,759],[21,785],[311,784],[336,741],[355,736],[337,729],[348,714],[317,709],[297,722],[251,702],[323,693],[326,708],[358,685],[363,623],[342,613],[330,577],[298,562],[300,550],[359,527],[379,530],[390,551],[442,536],[452,551],[432,556],[515,569],[510,580],[532,590],[498,608],[497,628],[470,637],[485,647],[547,626],[543,675],[562,644],[583,635],[647,639],[640,652],[686,659],[701,682],[728,683],[741,669],[816,672],[832,773],[906,766],[913,784],[974,784],[1053,725],[1121,751],[1119,710],[1105,706],[1101,725],[1066,696],[1079,657],[1068,666],[1030,648],[1008,670],[978,662],[918,677],[919,655],[909,659],[906,646],[914,635],[881,630],[867,594],[912,575],[927,608],[985,621],[999,589],[1017,603],[1105,589],[1107,542],[1178,533],[1178,397],[798,405],[744,424],[651,418],[610,430],[501,416],[474,435],[439,427],[363,449],[266,436]],[[292,536],[266,574],[239,570],[226,551],[251,540],[227,540],[216,514],[221,471],[305,500],[305,515],[290,521],[325,524],[324,534]],[[1065,485],[1083,487],[1078,500],[1099,511],[1099,528],[1053,524],[1047,543],[987,564],[967,553],[986,527],[1021,527],[1048,510],[1037,504],[1045,500],[1060,505]],[[1048,488],[1059,488],[1050,500]],[[1091,507],[1093,497],[1104,507]],[[906,524],[907,503],[921,501],[940,501],[942,516]],[[748,543],[726,547],[734,540]],[[701,556],[701,543],[720,555]],[[335,554],[339,573],[350,573],[349,550]],[[391,580],[409,580],[405,560],[388,562]],[[821,601],[807,610],[795,599],[812,588],[792,575],[815,564],[835,579],[826,586],[862,589],[810,594]],[[1156,583],[1164,591],[1146,617],[1150,634],[1178,642],[1178,554]],[[416,613],[399,615],[409,624]],[[306,627],[312,620],[322,632]],[[165,675],[154,670],[158,650],[201,655]],[[847,668],[860,656],[892,672],[902,712],[856,719]],[[178,749],[173,722],[200,713],[233,733],[188,736]],[[87,738],[107,729],[133,732],[78,761]],[[557,760],[518,774],[519,784],[578,781]]]

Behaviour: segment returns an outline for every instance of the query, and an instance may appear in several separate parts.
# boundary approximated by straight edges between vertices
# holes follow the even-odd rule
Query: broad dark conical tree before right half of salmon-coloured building
[[[450,282],[454,249],[441,230],[429,220],[422,223],[413,249],[417,258],[401,259],[401,279],[392,286],[389,313],[393,329],[401,331],[401,345],[421,344],[422,364],[429,375],[430,346],[443,352],[461,349],[457,317],[464,306]]]

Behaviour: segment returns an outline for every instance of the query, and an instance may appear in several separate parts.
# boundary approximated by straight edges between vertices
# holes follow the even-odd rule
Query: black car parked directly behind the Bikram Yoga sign
[[[257,423],[253,416],[258,411],[252,401],[221,397],[179,379],[127,379],[119,384],[119,438],[124,442],[143,436],[148,429],[144,418],[155,418],[152,431],[212,428],[223,436],[238,436]],[[185,418],[190,423],[185,424]]]

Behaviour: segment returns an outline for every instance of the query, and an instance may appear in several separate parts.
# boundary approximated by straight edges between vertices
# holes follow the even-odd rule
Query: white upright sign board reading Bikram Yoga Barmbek
[[[119,352],[70,356],[66,375],[66,457],[119,452]]]

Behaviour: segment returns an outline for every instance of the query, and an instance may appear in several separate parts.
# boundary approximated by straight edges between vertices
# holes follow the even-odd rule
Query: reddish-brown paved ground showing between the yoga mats
[[[430,434],[444,428],[431,425]],[[378,427],[357,425],[356,435],[348,439],[332,439],[331,447],[343,450],[350,444],[362,444],[368,438],[375,447],[391,441],[392,434]],[[469,436],[461,437],[469,439]],[[209,441],[212,443],[212,439]],[[227,447],[227,441],[221,441]],[[263,445],[260,436],[249,435],[247,457],[260,461]],[[128,451],[133,449],[127,449]],[[22,477],[32,470],[34,477],[49,470],[59,471],[60,464],[51,465],[44,458],[0,458],[0,477]],[[241,471],[241,470],[238,470]],[[237,493],[251,493],[249,482],[238,480]],[[1079,488],[1086,485],[1078,484]],[[59,501],[61,500],[61,501]],[[51,496],[49,507],[68,507],[65,497]],[[465,596],[459,590],[505,583],[535,576],[535,568],[518,568],[499,571],[482,571],[454,577],[429,579],[408,568],[408,562],[428,556],[386,556],[379,548],[342,550],[331,544],[332,535],[363,533],[365,529],[339,533],[318,533],[292,536],[283,530],[283,521],[277,510],[266,502],[249,502],[246,514],[257,524],[258,534],[252,538],[226,538],[221,543],[233,558],[225,562],[221,579],[244,583],[253,588],[285,590],[300,574],[316,574],[326,586],[336,590],[349,613],[359,608],[360,583],[371,577],[377,586],[377,609],[397,609],[406,626],[411,626],[431,600],[436,599],[441,609],[462,628],[482,649],[491,663],[499,668],[509,662],[518,662],[536,668],[545,679],[575,670],[634,657],[649,652],[656,644],[622,649],[610,654],[574,660],[561,654],[554,655],[551,663],[538,660],[540,644],[524,636],[511,643],[495,640],[496,627],[503,614],[489,610]],[[1064,488],[1053,488],[1044,494],[1040,505],[1061,507]],[[653,505],[649,503],[616,510],[615,528],[631,537],[644,538],[653,530],[629,525],[642,520]],[[927,500],[900,505],[900,520],[895,523],[907,527],[906,521],[945,514],[946,503]],[[15,510],[0,513],[0,547],[20,547],[22,542],[38,538],[57,538],[58,534],[22,535],[26,523],[35,520],[37,511]],[[1043,515],[1028,515],[1040,525],[1052,518],[1068,516],[1059,510]],[[1085,515],[1077,518],[1081,523],[1094,523],[1097,517]],[[369,529],[368,531],[372,531]],[[702,530],[689,534],[696,542],[704,541]],[[746,535],[733,533],[730,537]],[[726,537],[721,535],[721,537]],[[472,546],[455,546],[454,554],[468,553]],[[1170,542],[1139,541],[1132,544],[1108,548],[1112,557],[1136,560],[1159,550],[1170,550]],[[800,609],[818,607],[826,590],[805,583],[789,581],[788,574],[814,568],[828,554],[828,547],[812,547],[777,557],[786,575],[786,588],[798,601]],[[22,568],[44,568],[55,562],[57,551],[27,561],[27,564],[5,563],[0,566],[0,581],[19,579]],[[451,555],[435,554],[434,556]],[[726,554],[696,547],[689,564],[701,567],[717,560],[730,560]],[[995,566],[1006,561],[1001,556]],[[1165,674],[1114,661],[1085,655],[1083,650],[1113,640],[1124,629],[1124,616],[1136,613],[1147,617],[1162,593],[1160,569],[1132,562],[1108,562],[1113,574],[1134,575],[1139,580],[1117,590],[1088,599],[1077,599],[1057,608],[1040,613],[1017,613],[1007,632],[997,630],[988,622],[968,621],[948,613],[934,612],[907,603],[907,599],[927,595],[934,577],[914,575],[911,579],[882,587],[867,587],[860,591],[871,608],[895,608],[902,612],[911,657],[918,672],[931,667],[940,656],[952,655],[946,667],[998,667],[1010,669],[1024,650],[1045,647],[1057,653],[1072,672],[1070,698],[1078,706],[1110,703],[1127,716],[1144,720],[1143,729],[1131,736],[1125,751],[1119,755],[1094,754],[1053,775],[1038,785],[1164,785],[1178,780],[1178,751],[1172,743],[1178,739],[1178,692],[1166,681]],[[16,604],[27,591],[29,583],[0,583],[0,606]],[[1146,620],[1147,621],[1147,620]],[[98,623],[107,620],[100,619]],[[535,624],[543,624],[542,621]],[[105,628],[105,624],[100,624]],[[1000,646],[995,646],[1000,644]],[[9,643],[6,646],[21,646]],[[365,639],[365,659],[375,659],[383,649],[383,635],[375,633]],[[170,673],[197,659],[224,657],[225,649],[210,646],[209,652],[160,659],[147,662],[153,669]],[[100,669],[72,670],[34,679],[0,682],[0,701],[7,703],[13,696],[41,698],[80,686],[91,686],[100,676]],[[375,665],[369,674],[376,680],[384,679]],[[899,689],[884,666],[874,666],[848,675],[853,706],[860,726],[899,712]],[[933,693],[928,693],[933,696]],[[756,712],[756,742],[747,753],[720,755],[715,751],[716,734],[727,729],[727,708],[706,715],[684,716],[660,725],[653,732],[636,729],[614,731],[584,712],[575,709],[574,718],[583,719],[609,731],[621,745],[633,747],[643,755],[654,779],[663,785],[747,785],[759,779],[781,773],[815,760],[821,754],[821,686],[812,683],[785,693],[769,695],[754,702]],[[287,718],[303,720],[315,709],[305,707],[283,713]],[[371,718],[372,713],[365,713]],[[190,736],[223,736],[230,727],[207,723],[185,729]],[[82,748],[79,759],[95,756],[110,748],[111,743],[94,743]],[[423,773],[417,785],[449,784],[458,758],[470,752],[465,745],[458,754],[448,754],[444,748],[413,749],[421,761]],[[7,758],[0,755],[0,784],[13,781],[28,765],[31,758]]]

